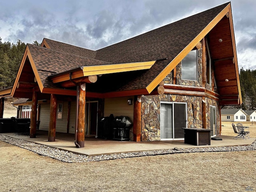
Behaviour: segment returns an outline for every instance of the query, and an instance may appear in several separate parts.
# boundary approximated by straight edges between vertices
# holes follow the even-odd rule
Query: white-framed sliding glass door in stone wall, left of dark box
[[[161,102],[160,138],[161,140],[184,138],[187,127],[186,103]]]

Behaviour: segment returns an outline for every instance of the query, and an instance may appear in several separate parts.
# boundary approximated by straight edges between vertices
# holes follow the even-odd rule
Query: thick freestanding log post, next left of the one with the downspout
[[[57,116],[57,98],[55,94],[51,94],[48,141],[52,141],[52,142],[55,141],[55,136],[56,136],[56,116]]]

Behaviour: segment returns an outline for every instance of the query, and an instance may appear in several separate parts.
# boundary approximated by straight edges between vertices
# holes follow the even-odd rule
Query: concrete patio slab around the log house
[[[153,142],[131,142],[131,141],[116,141],[104,140],[95,137],[85,137],[84,148],[76,148],[74,144],[74,134],[56,133],[56,141],[48,142],[48,132],[39,130],[37,131],[36,138],[29,138],[27,135],[18,135],[15,133],[2,133],[4,135],[23,139],[29,142],[35,142],[62,150],[84,154],[87,156],[94,156],[100,154],[114,154],[126,152],[138,152],[147,150],[162,150],[178,148],[202,148],[202,147],[221,147],[221,146],[238,146],[250,145],[255,141],[255,138],[250,139],[234,139],[233,136],[218,136],[222,140],[211,140],[211,145],[194,146],[184,144],[184,140],[171,140],[171,141],[153,141]]]

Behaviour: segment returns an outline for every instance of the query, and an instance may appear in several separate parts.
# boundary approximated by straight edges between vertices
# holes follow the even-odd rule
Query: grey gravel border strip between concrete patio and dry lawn
[[[104,154],[96,156],[86,156],[60,150],[42,144],[34,142],[28,142],[26,140],[12,138],[6,135],[0,134],[0,140],[6,143],[16,145],[18,147],[30,150],[37,154],[48,156],[62,162],[74,163],[74,162],[91,162],[91,161],[102,161],[102,160],[113,160],[118,158],[128,157],[141,157],[141,156],[152,156],[152,155],[163,155],[163,154],[175,154],[175,153],[193,153],[193,152],[227,152],[227,151],[246,151],[256,150],[256,141],[251,145],[239,145],[239,146],[222,146],[222,147],[206,147],[206,148],[174,148],[164,150],[150,150],[141,152],[129,152],[129,153],[118,153],[118,154]]]

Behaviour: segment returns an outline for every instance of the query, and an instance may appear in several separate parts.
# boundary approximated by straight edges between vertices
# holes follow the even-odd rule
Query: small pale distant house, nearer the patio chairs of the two
[[[222,121],[246,121],[246,112],[242,109],[222,109],[221,120]]]

